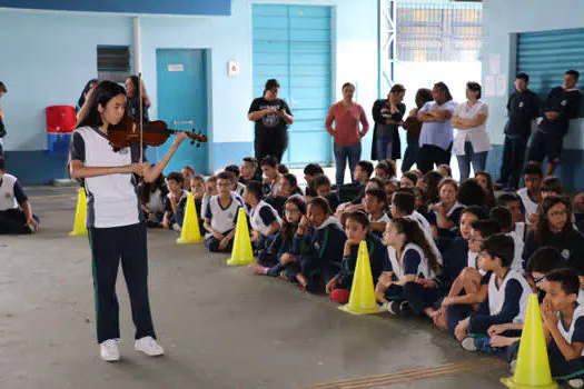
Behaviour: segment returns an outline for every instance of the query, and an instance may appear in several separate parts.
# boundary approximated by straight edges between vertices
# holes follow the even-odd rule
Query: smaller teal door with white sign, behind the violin
[[[207,132],[207,71],[205,50],[156,50],[158,119],[169,128]],[[149,161],[162,158],[172,137],[158,150],[148,152]],[[187,139],[170,160],[165,174],[190,164],[197,173],[208,173],[208,147],[191,144]]]

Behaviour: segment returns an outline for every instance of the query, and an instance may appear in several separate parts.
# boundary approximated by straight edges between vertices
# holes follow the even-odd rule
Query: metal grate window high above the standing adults
[[[398,0],[395,60],[479,61],[482,22],[483,8],[477,2]]]

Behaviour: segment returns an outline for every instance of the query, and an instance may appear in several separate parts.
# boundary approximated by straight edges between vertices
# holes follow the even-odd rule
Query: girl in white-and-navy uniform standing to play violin
[[[165,157],[155,166],[141,160],[138,143],[115,149],[108,129],[121,121],[127,96],[123,87],[100,82],[88,97],[73,132],[69,170],[82,179],[87,192],[87,227],[96,293],[97,338],[101,358],[119,360],[119,307],[116,277],[121,267],[130,296],[136,326],[135,348],[148,356],[161,356],[156,341],[148,299],[146,222],[136,191],[138,177],[154,182],[187,137],[180,132]]]

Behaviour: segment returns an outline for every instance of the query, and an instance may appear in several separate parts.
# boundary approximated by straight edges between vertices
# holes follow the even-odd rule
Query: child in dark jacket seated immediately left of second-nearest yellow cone
[[[324,289],[338,273],[347,236],[343,227],[330,215],[328,202],[314,198],[308,202],[306,217],[300,219],[294,237],[294,252],[299,256],[299,272],[296,278],[308,292]]]

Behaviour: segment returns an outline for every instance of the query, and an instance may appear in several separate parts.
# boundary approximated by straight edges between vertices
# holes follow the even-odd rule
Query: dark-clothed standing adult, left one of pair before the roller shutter
[[[529,76],[518,73],[515,78],[515,92],[507,102],[508,119],[505,124],[501,178],[497,183],[511,192],[519,188],[527,141],[532,134],[534,120],[540,114],[540,99],[527,89],[528,84]]]

